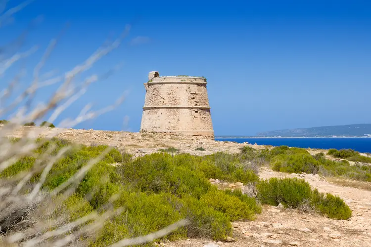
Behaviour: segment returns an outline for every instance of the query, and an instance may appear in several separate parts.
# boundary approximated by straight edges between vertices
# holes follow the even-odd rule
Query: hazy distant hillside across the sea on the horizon
[[[275,137],[365,137],[367,135],[371,137],[371,124],[282,129],[257,134],[257,136]]]

